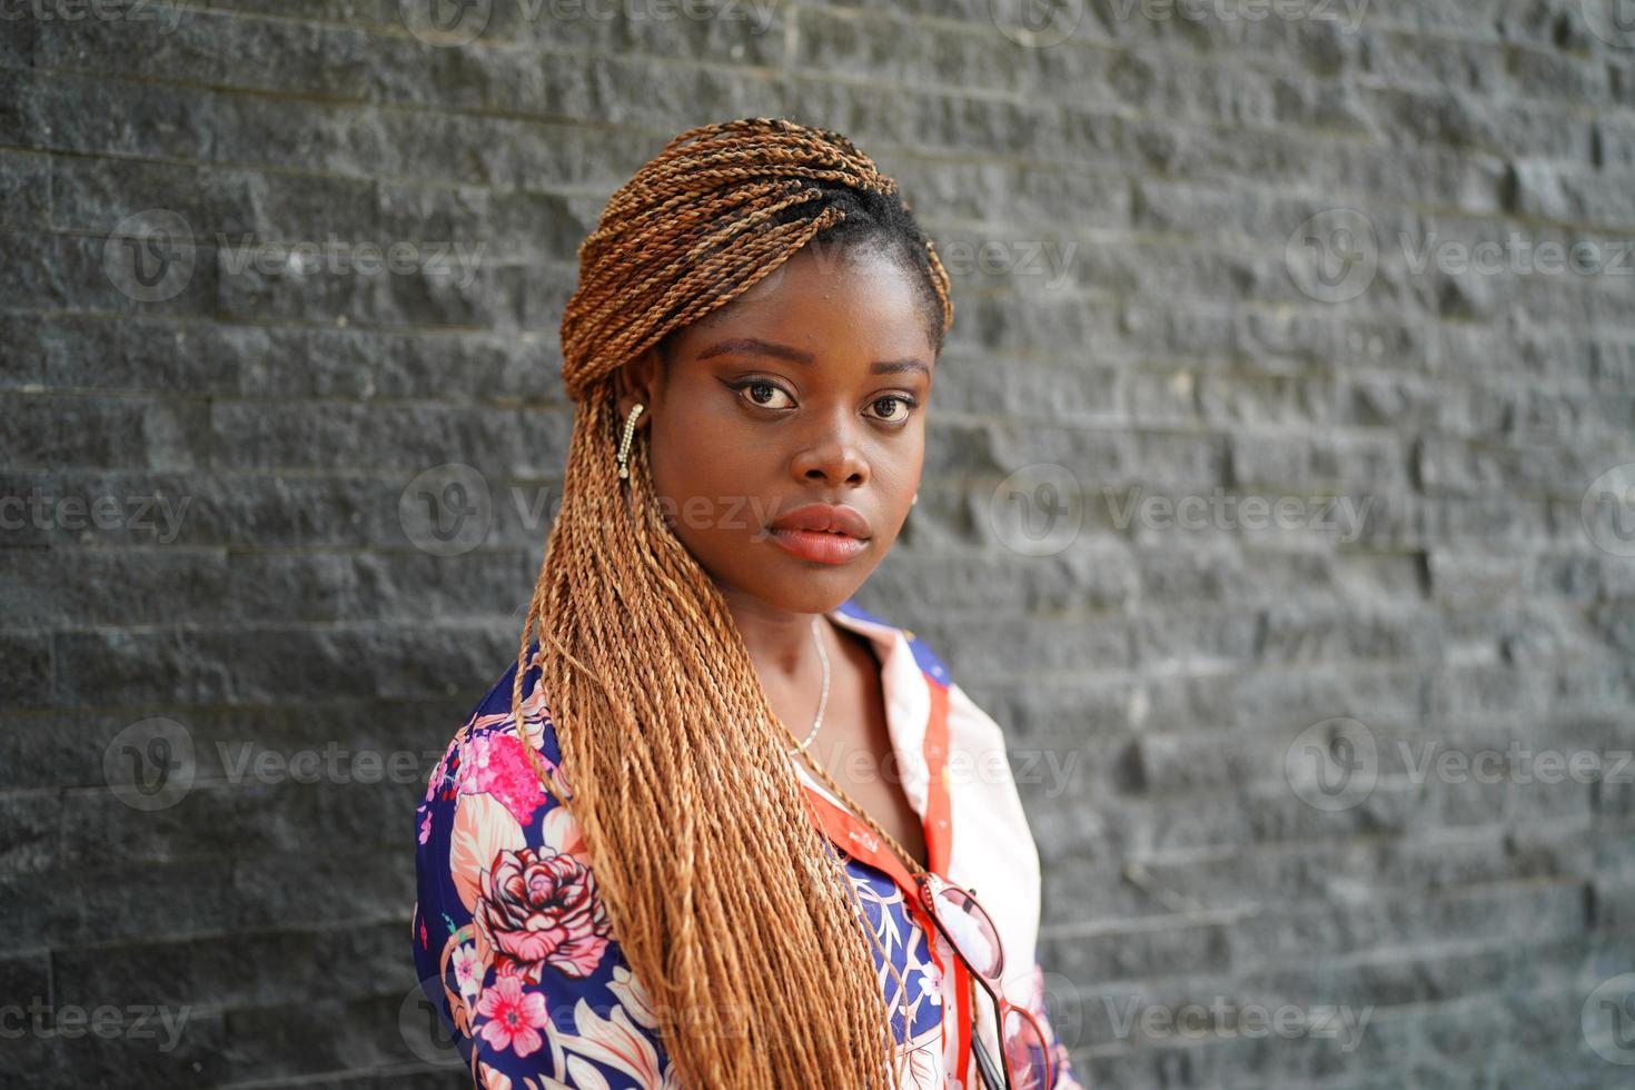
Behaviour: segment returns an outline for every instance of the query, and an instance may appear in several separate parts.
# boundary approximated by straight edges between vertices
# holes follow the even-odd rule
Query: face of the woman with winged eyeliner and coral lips
[[[829,611],[896,541],[935,368],[916,276],[878,247],[808,247],[621,371],[665,516],[729,600]],[[867,538],[808,534],[831,559],[801,556],[770,525],[808,503],[853,508]]]

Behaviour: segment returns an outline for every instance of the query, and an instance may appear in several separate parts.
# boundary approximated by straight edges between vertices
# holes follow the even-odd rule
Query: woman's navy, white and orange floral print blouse
[[[1007,954],[1002,990],[1045,1030],[1051,1085],[1082,1090],[1045,1012],[1038,853],[1004,735],[912,632],[852,601],[827,616],[868,637],[881,662],[886,724],[930,869],[978,891]],[[515,670],[455,734],[417,807],[410,938],[420,989],[484,1090],[680,1087],[597,897],[595,861],[513,730]],[[523,677],[523,729],[554,766],[561,752],[538,675],[535,667]],[[981,1087],[973,1020],[997,1061],[992,998],[924,915],[901,861],[803,762],[790,762],[880,940],[871,949],[894,1012],[901,1087]],[[564,778],[572,783],[572,770]]]

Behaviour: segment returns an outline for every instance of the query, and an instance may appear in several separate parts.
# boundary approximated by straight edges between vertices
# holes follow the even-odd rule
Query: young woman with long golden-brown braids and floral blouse
[[[579,260],[518,659],[417,814],[415,966],[476,1085],[1077,1087],[1004,737],[850,601],[953,317],[896,185],[705,126]]]

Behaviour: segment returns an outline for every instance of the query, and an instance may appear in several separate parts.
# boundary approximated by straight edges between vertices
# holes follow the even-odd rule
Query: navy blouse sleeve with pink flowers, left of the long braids
[[[528,755],[540,768],[558,762],[538,673],[523,675],[518,721],[510,665],[427,784],[412,920],[420,989],[477,1085],[669,1087],[657,1021],[613,938],[584,837]]]

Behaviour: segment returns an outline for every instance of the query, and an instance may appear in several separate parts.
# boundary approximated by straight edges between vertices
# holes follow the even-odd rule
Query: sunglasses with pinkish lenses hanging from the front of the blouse
[[[976,1065],[989,1090],[1046,1090],[1051,1085],[1050,1048],[1045,1030],[1024,1007],[1017,1007],[999,992],[999,974],[1006,969],[1006,951],[999,943],[999,930],[992,918],[976,904],[970,891],[945,882],[930,871],[914,876],[919,884],[921,904],[937,930],[943,933],[960,961],[992,997],[999,1012],[999,1041],[1004,1067],[983,1048],[981,1034],[971,1034],[976,1048]]]

